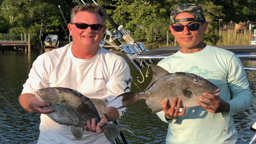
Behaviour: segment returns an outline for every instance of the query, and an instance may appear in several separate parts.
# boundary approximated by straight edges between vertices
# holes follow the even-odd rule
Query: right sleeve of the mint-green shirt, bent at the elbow
[[[231,100],[228,113],[222,113],[222,116],[233,116],[244,111],[252,105],[252,92],[244,71],[241,60],[234,54],[228,65],[228,87],[230,89]]]

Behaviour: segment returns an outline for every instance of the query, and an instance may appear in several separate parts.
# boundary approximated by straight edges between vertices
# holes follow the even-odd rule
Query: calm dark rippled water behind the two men
[[[118,52],[117,52],[118,53]],[[39,133],[40,114],[30,113],[24,110],[19,104],[19,95],[22,85],[28,78],[28,73],[36,60],[39,52],[32,50],[31,53],[4,51],[0,53],[0,93],[12,104],[12,106],[23,116],[23,118]],[[120,55],[122,55],[120,53]],[[243,61],[246,67],[256,67],[256,61]],[[131,66],[130,66],[131,67]],[[145,76],[146,69],[142,69]],[[138,86],[144,90],[151,77],[145,78],[139,83],[136,78],[136,71],[131,67],[131,75]],[[142,81],[142,77],[140,81]],[[256,72],[247,72],[250,88],[253,93],[252,107],[234,116],[236,129],[238,130],[237,143],[249,143],[254,132],[250,127],[256,121]],[[140,90],[132,84],[132,91]],[[2,96],[0,95],[2,98]],[[38,135],[22,119],[22,117],[4,100],[0,100],[0,142],[1,143],[36,143]],[[128,132],[123,132],[128,143],[164,143],[168,124],[162,122],[156,115],[151,115],[144,100],[139,100],[128,108],[126,114],[117,121],[118,124],[131,130],[140,138],[137,140]],[[121,138],[120,138],[121,139]]]

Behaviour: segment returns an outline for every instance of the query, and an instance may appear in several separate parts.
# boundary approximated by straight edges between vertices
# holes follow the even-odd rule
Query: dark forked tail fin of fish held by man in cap
[[[134,102],[136,102],[138,100],[138,98],[136,97],[137,94],[138,94],[137,92],[125,92],[125,93],[117,96],[117,97],[123,97],[122,98],[123,105],[119,108],[128,107],[128,106],[132,105]],[[117,109],[119,109],[119,108],[117,108]]]

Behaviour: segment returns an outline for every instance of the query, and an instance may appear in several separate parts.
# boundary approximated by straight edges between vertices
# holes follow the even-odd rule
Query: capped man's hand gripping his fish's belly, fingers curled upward
[[[173,98],[170,108],[168,108],[167,104],[168,104],[168,99],[164,99],[162,108],[164,110],[164,116],[167,119],[175,119],[177,118],[177,116],[184,116],[186,112],[186,108],[183,108],[182,112],[180,112],[181,99]]]

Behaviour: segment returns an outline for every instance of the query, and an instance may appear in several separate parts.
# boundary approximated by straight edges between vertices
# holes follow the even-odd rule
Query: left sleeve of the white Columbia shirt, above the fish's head
[[[37,57],[32,65],[32,68],[30,69],[26,83],[23,84],[21,94],[34,94],[38,89],[49,87],[49,73],[48,69],[45,67],[45,65],[47,65],[45,63],[46,62],[44,61],[44,57],[42,55]]]

